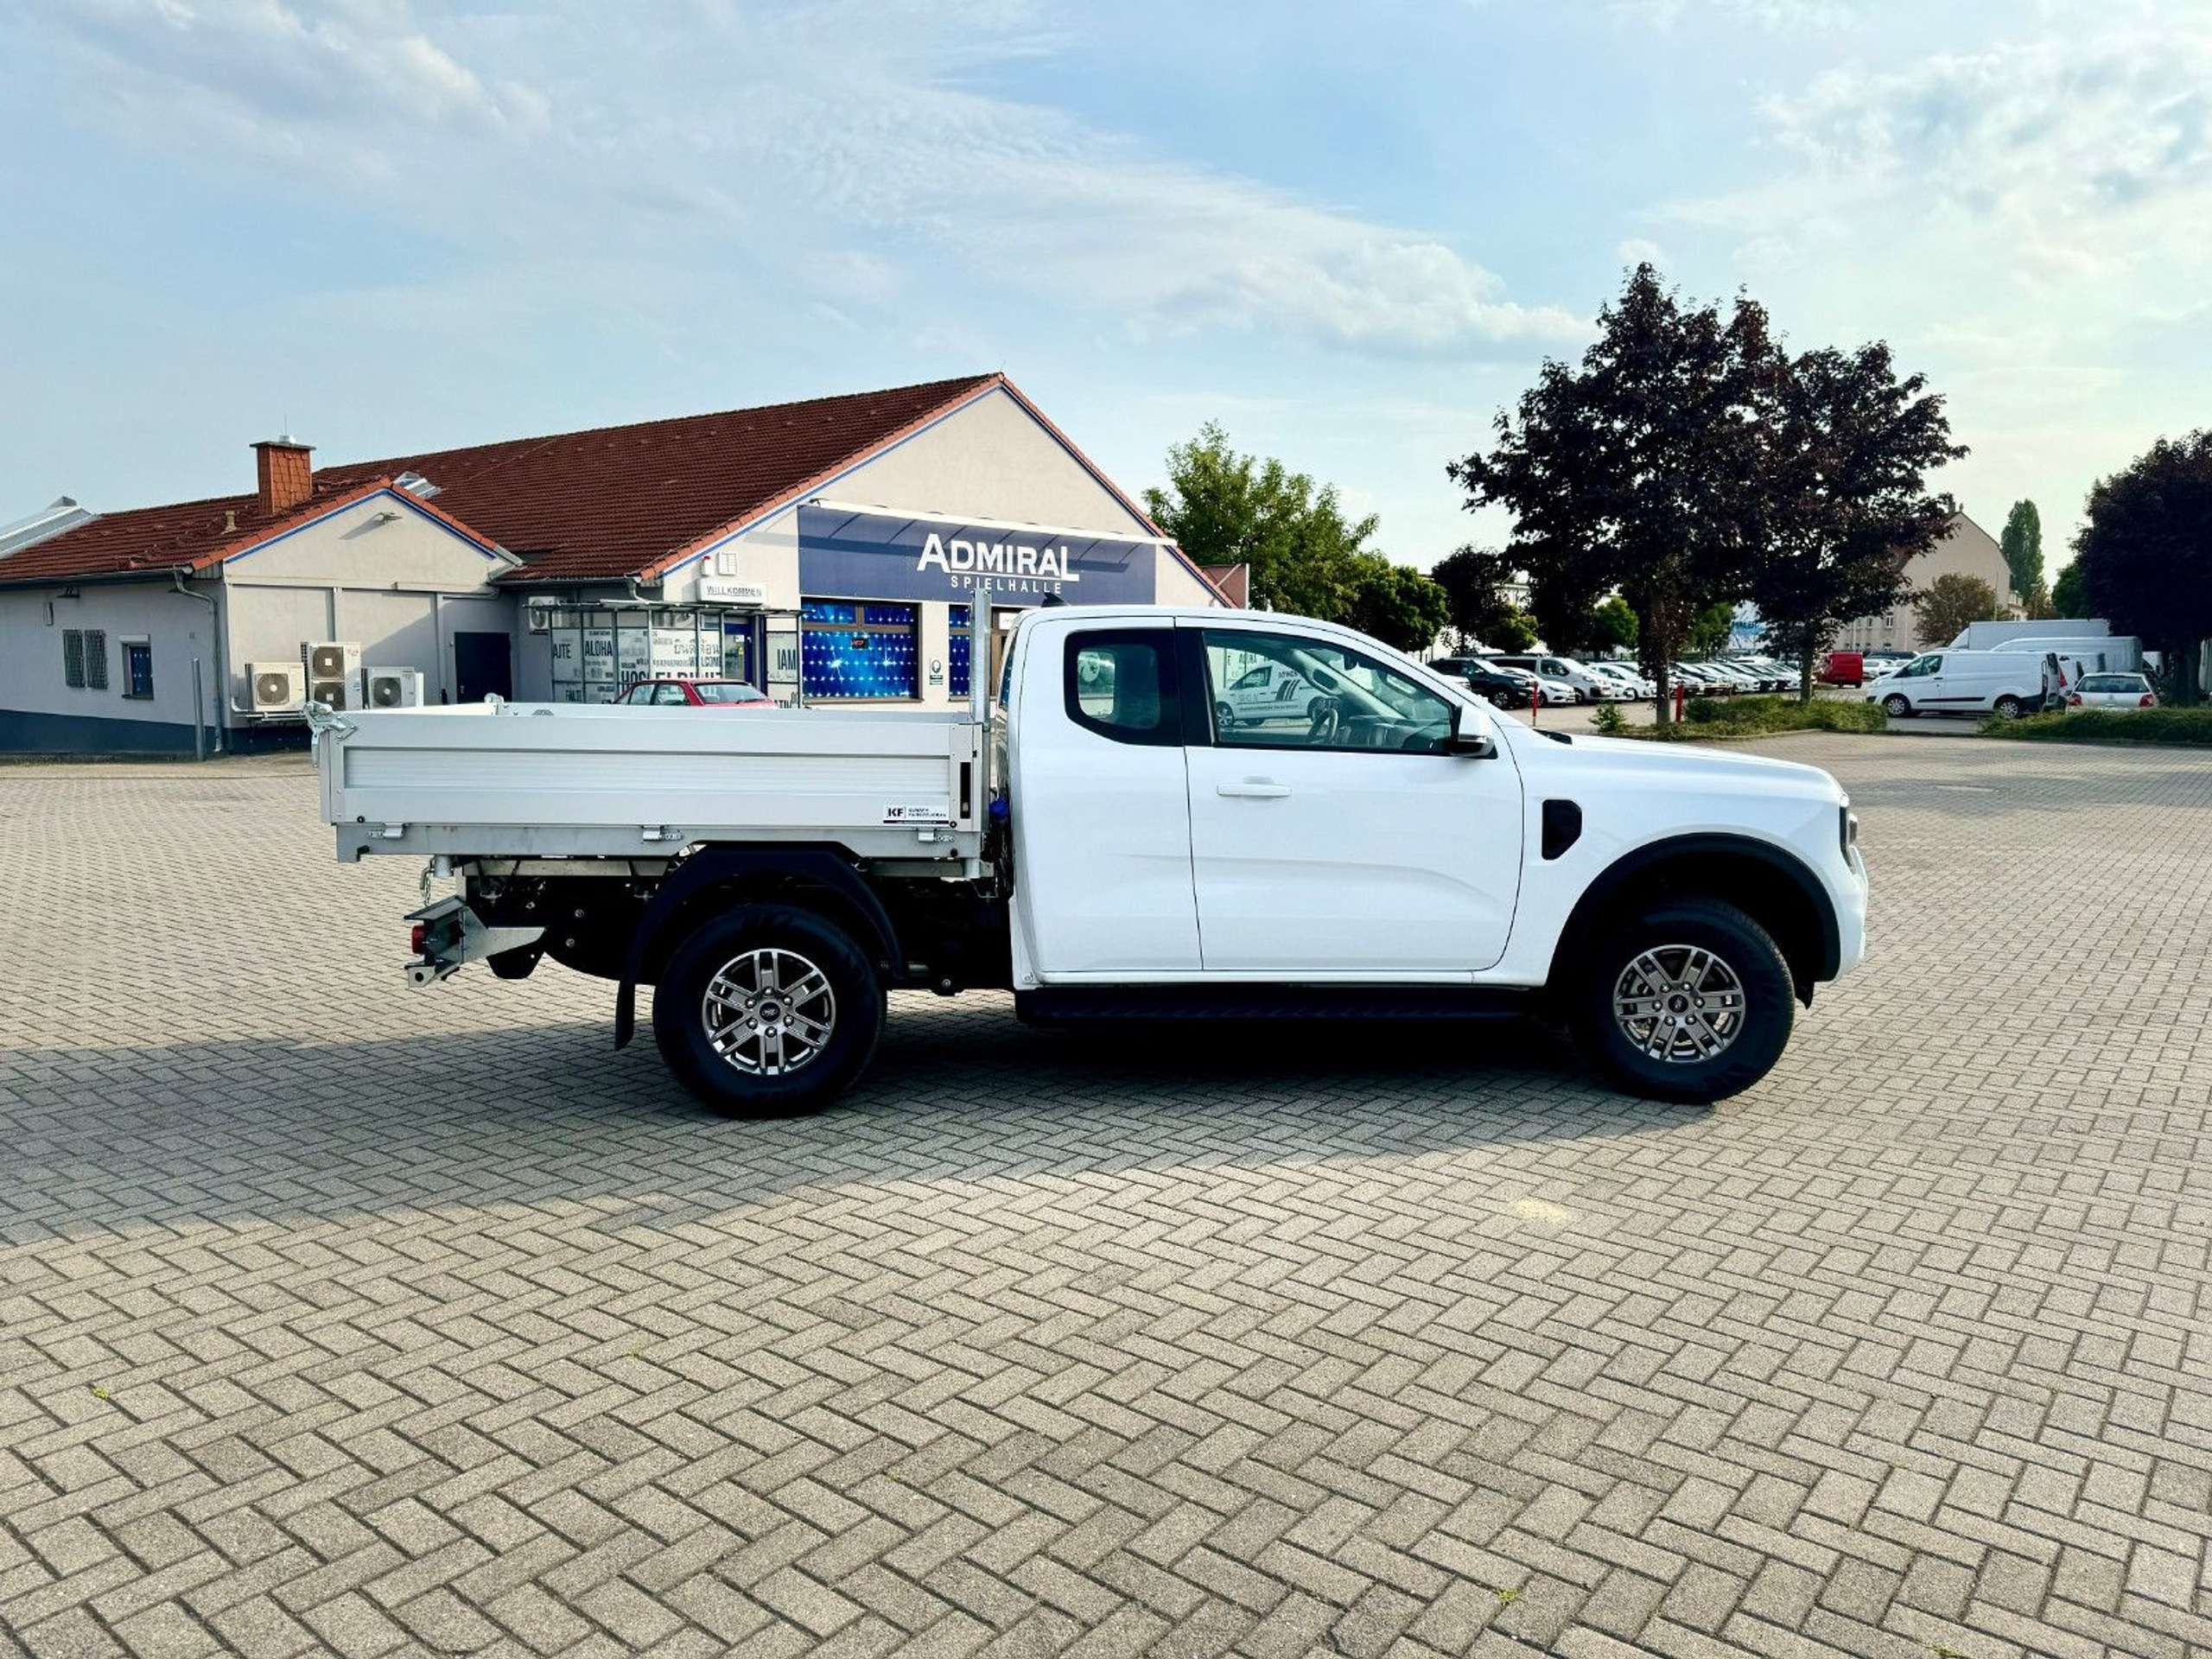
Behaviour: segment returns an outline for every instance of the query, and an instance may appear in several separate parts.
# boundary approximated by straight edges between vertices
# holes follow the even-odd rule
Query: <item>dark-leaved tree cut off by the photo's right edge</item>
[[[2157,646],[2174,701],[2197,703],[2199,659],[2212,639],[2212,429],[2159,438],[2097,480],[2059,584],[2075,571],[2090,615]]]

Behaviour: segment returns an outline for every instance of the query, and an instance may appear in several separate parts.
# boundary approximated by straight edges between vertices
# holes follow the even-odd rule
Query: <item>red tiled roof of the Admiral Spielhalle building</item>
[[[206,568],[409,471],[438,484],[434,511],[524,560],[511,580],[650,577],[692,544],[825,482],[1002,383],[1000,374],[971,374],[889,392],[319,467],[314,498],[292,513],[263,518],[252,493],[102,513],[0,560],[0,584]]]

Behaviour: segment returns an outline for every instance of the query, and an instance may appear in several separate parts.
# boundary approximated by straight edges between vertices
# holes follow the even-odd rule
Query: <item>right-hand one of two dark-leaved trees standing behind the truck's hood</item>
[[[1798,668],[1836,630],[1905,602],[1907,562],[1942,535],[1958,502],[1931,495],[1927,473],[1964,456],[1927,378],[1900,378],[1880,341],[1856,352],[1776,358],[1767,405],[1767,538],[1750,597],[1767,646]]]

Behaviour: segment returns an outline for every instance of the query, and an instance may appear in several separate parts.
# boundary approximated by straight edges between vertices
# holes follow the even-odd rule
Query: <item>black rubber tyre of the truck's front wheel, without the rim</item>
[[[1725,1046],[1710,1057],[1652,1055],[1632,1042],[1615,1018],[1615,989],[1641,953],[1657,956],[1661,967],[1677,964],[1666,947],[1710,951],[1741,987],[1739,1024],[1725,1033]],[[1743,1093],[1765,1077],[1781,1060],[1796,1018],[1796,989],[1781,947],[1759,922],[1719,898],[1666,900],[1599,936],[1584,951],[1568,995],[1575,1033],[1608,1082],[1630,1095],[1697,1106]],[[1712,1000],[1719,1002],[1721,995],[1712,993]],[[1672,1004],[1672,998],[1666,1002]],[[1694,1040],[1683,1031],[1666,1042],[1677,1046]]]

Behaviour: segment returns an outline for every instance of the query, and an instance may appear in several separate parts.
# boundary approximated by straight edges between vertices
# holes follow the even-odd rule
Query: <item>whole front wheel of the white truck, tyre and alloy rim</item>
[[[1573,989],[1575,1026],[1626,1093],[1710,1104],[1781,1060],[1790,964],[1767,931],[1717,898],[1674,898],[1606,933]]]

